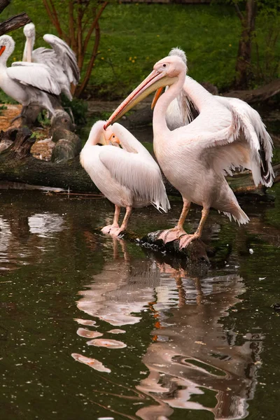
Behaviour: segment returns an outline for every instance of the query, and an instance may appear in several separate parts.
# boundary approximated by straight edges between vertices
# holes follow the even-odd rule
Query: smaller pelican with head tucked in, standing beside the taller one
[[[80,152],[80,163],[97,188],[115,204],[113,224],[103,233],[118,236],[127,228],[132,207],[153,204],[158,210],[170,208],[160,168],[146,148],[122,125],[116,123],[106,131],[106,121],[97,121]],[[119,143],[122,148],[110,145]],[[99,146],[102,144],[103,146]],[[125,218],[118,225],[120,207]]]

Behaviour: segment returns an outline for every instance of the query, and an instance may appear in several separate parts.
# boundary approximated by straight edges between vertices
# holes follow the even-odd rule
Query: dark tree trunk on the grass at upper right
[[[250,81],[251,48],[253,31],[255,30],[257,3],[256,0],[247,0],[244,15],[242,15],[237,5],[236,8],[237,14],[241,20],[242,31],[239,40],[237,64],[235,66],[237,72],[235,87],[237,87],[237,89],[246,89]]]

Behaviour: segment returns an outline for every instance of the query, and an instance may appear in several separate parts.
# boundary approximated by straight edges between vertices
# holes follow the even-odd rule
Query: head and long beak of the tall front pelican
[[[148,77],[146,77],[146,79],[140,83],[136,89],[134,89],[134,91],[122,102],[122,104],[118,106],[116,111],[113,112],[109,120],[107,120],[104,125],[105,130],[110,124],[114,123],[136,104],[141,102],[141,100],[146,98],[148,94],[151,94],[161,87],[173,85],[180,77],[183,77],[183,80],[185,80],[186,70],[186,64],[178,55],[172,55],[160,59],[160,61],[155,63],[153,71],[148,75]]]

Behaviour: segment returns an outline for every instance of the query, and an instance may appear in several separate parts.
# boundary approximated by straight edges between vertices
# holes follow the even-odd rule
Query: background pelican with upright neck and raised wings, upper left
[[[27,40],[25,42],[22,61],[35,62],[48,66],[62,92],[71,100],[71,83],[77,85],[80,79],[80,71],[74,52],[66,42],[52,34],[45,34],[43,36],[43,40],[50,44],[52,49],[40,47],[33,50],[35,43],[34,24],[28,23],[25,25],[23,32]]]

